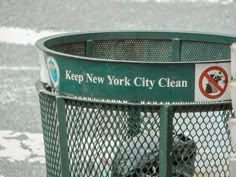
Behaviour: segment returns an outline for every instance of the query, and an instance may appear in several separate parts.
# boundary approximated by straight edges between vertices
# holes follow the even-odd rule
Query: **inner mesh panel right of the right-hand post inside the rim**
[[[181,61],[209,61],[230,59],[229,45],[220,43],[182,41]]]

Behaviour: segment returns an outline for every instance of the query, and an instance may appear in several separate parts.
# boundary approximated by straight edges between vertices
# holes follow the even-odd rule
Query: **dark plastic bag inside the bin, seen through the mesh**
[[[173,135],[172,176],[190,177],[194,173],[196,143],[183,134]],[[113,165],[113,177],[157,177],[159,138],[139,134],[123,142]]]

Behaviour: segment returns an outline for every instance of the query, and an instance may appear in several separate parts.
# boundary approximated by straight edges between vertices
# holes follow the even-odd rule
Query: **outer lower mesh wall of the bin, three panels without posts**
[[[40,93],[47,175],[61,177],[55,98]],[[71,177],[158,176],[160,105],[65,100]],[[230,104],[174,106],[172,176],[229,176]]]

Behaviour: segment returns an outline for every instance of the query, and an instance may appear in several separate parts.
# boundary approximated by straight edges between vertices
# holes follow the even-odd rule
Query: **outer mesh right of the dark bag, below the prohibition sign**
[[[227,121],[232,116],[231,106],[215,105],[178,107],[174,114],[176,134],[184,133],[197,146],[195,176],[229,176],[228,155],[232,152]],[[177,149],[175,156],[183,154]],[[189,152],[189,157],[192,154]],[[185,159],[188,161],[189,159]],[[183,166],[183,171],[186,166]]]

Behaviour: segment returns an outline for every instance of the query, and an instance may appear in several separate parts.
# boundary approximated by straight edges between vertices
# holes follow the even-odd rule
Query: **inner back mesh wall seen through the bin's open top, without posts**
[[[65,43],[50,47],[62,53],[85,56],[86,42]],[[95,40],[92,41],[92,53],[90,57],[146,61],[168,62],[172,61],[172,40]],[[209,61],[228,60],[230,48],[227,44],[213,42],[181,41],[180,61]]]

